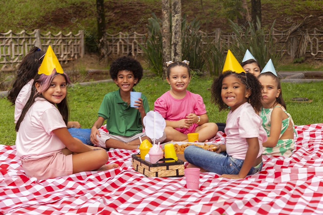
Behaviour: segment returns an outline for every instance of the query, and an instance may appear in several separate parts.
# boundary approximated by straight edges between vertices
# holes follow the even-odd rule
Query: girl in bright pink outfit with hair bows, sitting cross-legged
[[[198,142],[208,141],[218,132],[218,127],[209,122],[202,97],[186,90],[191,81],[189,62],[166,63],[166,79],[171,89],[159,97],[154,105],[154,110],[166,120],[165,142],[186,142],[188,133],[199,133]]]

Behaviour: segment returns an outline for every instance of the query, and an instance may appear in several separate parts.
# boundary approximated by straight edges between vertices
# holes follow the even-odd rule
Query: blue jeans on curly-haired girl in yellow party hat
[[[206,171],[217,174],[237,175],[242,167],[244,160],[229,156],[226,152],[216,153],[214,151],[204,150],[197,146],[188,146],[184,150],[184,158],[189,163],[201,167]],[[248,175],[260,172],[263,163],[258,168],[251,167]]]

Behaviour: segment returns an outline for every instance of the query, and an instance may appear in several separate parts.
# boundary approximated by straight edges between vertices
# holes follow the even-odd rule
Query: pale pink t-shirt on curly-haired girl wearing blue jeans
[[[228,155],[236,159],[245,160],[248,150],[246,138],[257,137],[259,141],[259,157],[264,149],[262,143],[267,141],[267,133],[262,127],[262,119],[249,103],[240,105],[237,109],[228,113],[226,126],[225,145]]]

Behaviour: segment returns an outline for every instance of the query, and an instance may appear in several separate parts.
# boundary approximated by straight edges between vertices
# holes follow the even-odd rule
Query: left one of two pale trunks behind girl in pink
[[[162,13],[162,78],[167,77],[166,62],[171,60],[171,40],[170,40],[170,23],[169,23],[169,0],[161,1],[161,13]]]

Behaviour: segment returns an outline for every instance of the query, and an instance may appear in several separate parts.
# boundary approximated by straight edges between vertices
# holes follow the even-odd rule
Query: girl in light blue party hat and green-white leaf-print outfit
[[[258,80],[263,87],[260,117],[268,136],[267,141],[263,143],[263,154],[290,157],[295,146],[295,126],[292,117],[286,111],[280,81],[271,59],[258,76]]]

